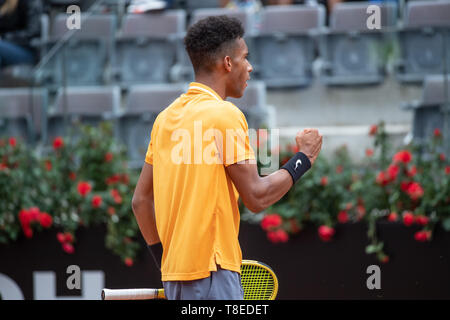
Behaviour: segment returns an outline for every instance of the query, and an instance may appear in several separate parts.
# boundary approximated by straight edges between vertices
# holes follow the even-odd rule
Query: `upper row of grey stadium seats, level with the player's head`
[[[374,30],[368,28],[370,5],[373,3],[337,4],[328,28],[321,5],[269,6],[258,14],[197,9],[188,25],[219,14],[241,20],[254,78],[268,87],[309,85],[318,57],[319,76],[327,85],[380,83],[396,46],[394,70],[399,81],[420,82],[427,74],[442,73],[445,63],[450,65],[449,0],[408,2],[403,20],[397,19],[394,3],[379,3],[381,29]],[[61,38],[70,39],[52,52],[53,58],[40,69],[37,78],[41,84],[126,87],[193,79],[183,48],[187,24],[183,10],[128,14],[121,21],[108,14],[83,16],[81,29],[72,31],[66,20],[66,15],[59,15],[51,24],[48,51]]]

